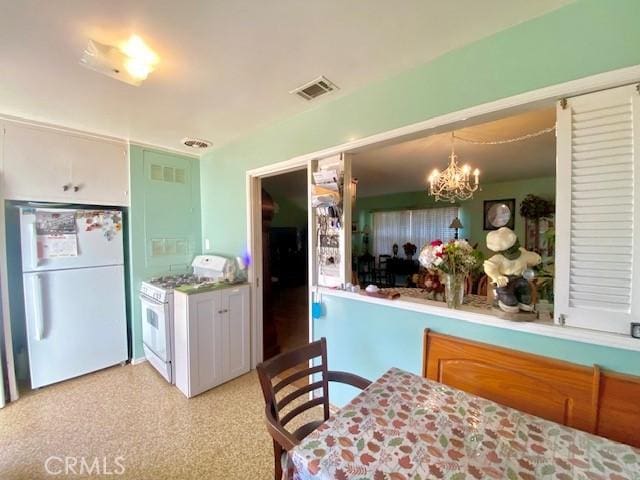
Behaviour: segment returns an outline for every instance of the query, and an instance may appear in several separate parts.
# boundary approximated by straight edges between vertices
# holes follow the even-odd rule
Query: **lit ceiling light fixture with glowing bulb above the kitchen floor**
[[[158,55],[138,35],[132,35],[118,47],[90,39],[80,64],[137,87],[153,72],[158,61]]]

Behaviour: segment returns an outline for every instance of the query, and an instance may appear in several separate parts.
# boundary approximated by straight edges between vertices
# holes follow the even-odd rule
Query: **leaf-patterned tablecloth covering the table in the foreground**
[[[306,479],[640,479],[640,450],[392,368],[288,456]]]

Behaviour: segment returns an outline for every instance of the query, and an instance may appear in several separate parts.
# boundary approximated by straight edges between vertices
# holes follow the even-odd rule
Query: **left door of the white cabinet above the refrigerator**
[[[67,139],[53,130],[5,123],[5,198],[69,202],[71,161]]]

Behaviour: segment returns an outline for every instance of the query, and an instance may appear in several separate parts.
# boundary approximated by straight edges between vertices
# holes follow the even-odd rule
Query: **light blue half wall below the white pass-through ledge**
[[[327,338],[329,368],[355,372],[371,380],[392,366],[420,375],[425,328],[573,363],[604,365],[618,372],[640,374],[640,354],[631,350],[488,327],[349,298],[325,295],[323,303],[326,314],[313,320],[313,332],[316,338]],[[355,394],[350,387],[332,384],[330,401],[344,405]]]

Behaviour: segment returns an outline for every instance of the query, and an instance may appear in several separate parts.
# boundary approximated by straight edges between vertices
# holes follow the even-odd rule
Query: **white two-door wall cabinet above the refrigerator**
[[[10,200],[129,203],[125,142],[5,121],[3,186]]]

